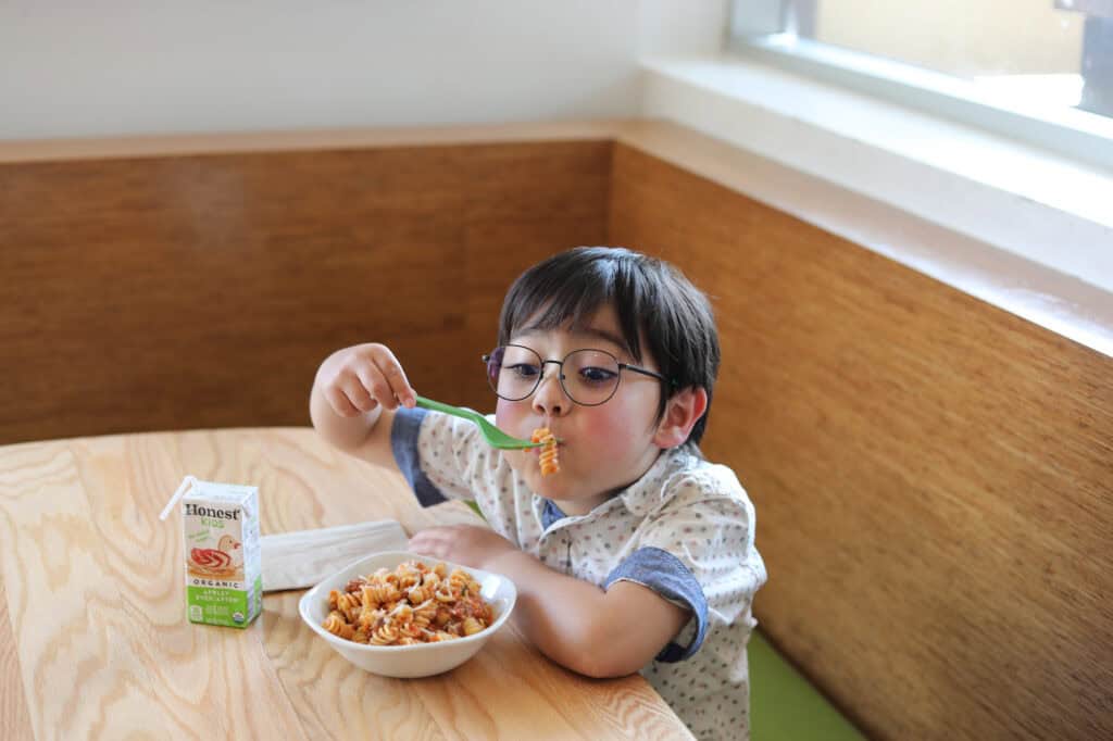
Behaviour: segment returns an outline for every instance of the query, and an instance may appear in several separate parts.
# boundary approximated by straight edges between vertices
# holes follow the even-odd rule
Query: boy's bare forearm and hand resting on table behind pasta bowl
[[[417,533],[411,549],[509,576],[514,620],[546,656],[588,676],[623,676],[648,664],[691,612],[627,581],[605,592],[549,569],[486,527],[454,525]]]

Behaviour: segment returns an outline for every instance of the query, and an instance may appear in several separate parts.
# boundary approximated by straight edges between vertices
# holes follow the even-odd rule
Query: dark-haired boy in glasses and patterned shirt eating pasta
[[[498,572],[538,648],[589,676],[640,671],[696,735],[748,735],[750,604],[766,580],[754,506],[703,460],[719,365],[707,298],[670,265],[580,247],[522,274],[484,356],[494,421],[548,427],[536,449],[495,451],[456,417],[414,408],[383,345],[337,350],[311,397],[317,431],[397,466],[423,505],[474,497],[491,528],[435,527],[411,549]]]

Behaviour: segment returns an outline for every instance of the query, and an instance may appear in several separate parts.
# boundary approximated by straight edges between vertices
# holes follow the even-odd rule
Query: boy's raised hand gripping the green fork
[[[394,353],[367,343],[336,350],[317,369],[316,385],[338,416],[354,417],[382,405],[413,408],[415,392]]]

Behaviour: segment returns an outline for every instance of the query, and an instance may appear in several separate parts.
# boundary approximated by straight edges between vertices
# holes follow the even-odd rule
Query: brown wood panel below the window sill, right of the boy
[[[630,147],[611,194],[713,296],[777,645],[877,738],[1113,737],[1113,359]]]

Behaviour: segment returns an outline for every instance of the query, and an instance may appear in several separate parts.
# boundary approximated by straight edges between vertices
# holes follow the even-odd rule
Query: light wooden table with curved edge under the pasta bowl
[[[392,517],[477,522],[312,429],[199,431],[0,447],[0,739],[690,738],[640,676],[597,681],[512,628],[459,669],[355,669],[268,594],[246,631],[185,620],[186,473],[259,486],[263,534]]]

